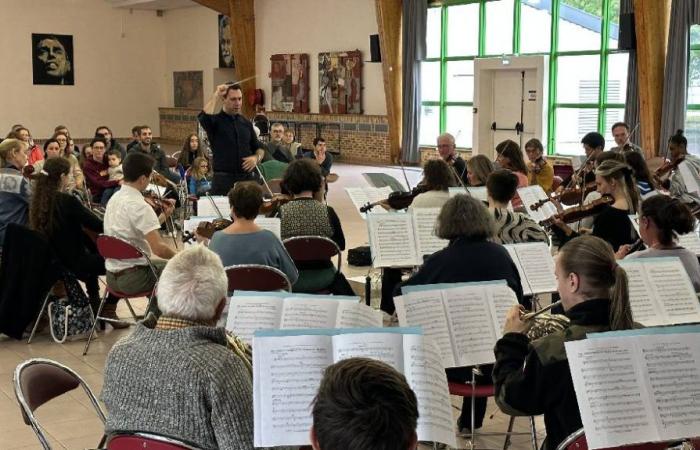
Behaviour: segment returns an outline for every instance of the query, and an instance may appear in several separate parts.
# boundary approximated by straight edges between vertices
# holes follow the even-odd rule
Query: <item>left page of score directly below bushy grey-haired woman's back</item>
[[[423,335],[432,339],[445,367],[457,367],[455,352],[447,324],[447,315],[439,290],[420,291],[394,297],[399,326],[423,328]]]

